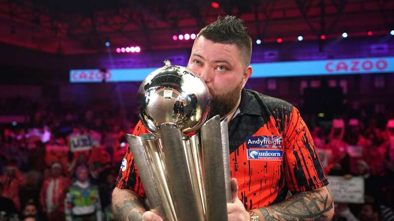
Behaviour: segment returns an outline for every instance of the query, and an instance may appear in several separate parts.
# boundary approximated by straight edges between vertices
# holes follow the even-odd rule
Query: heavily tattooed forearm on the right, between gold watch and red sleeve
[[[328,186],[323,195],[319,190],[294,194],[286,201],[259,209],[265,221],[321,221],[333,208],[331,191]]]

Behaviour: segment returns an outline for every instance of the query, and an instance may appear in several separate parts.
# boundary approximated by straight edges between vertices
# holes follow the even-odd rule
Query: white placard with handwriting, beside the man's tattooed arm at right
[[[364,179],[352,177],[344,179],[342,176],[328,176],[329,187],[334,202],[364,203]]]

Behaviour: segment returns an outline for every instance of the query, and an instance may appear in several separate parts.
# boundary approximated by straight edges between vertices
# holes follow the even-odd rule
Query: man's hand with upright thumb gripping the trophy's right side
[[[246,211],[243,203],[238,198],[237,179],[231,179],[231,196],[232,203],[227,204],[227,214],[229,221],[250,221],[248,211]]]

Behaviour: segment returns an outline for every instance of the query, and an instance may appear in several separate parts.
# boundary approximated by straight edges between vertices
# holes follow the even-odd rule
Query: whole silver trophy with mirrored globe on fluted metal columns
[[[210,94],[185,67],[164,61],[138,89],[152,134],[126,135],[151,211],[165,221],[227,221],[231,200],[227,119],[207,120]]]

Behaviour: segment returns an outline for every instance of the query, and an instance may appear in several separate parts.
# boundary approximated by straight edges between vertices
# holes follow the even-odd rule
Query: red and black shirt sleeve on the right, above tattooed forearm
[[[312,136],[295,107],[283,137],[285,180],[289,190],[310,191],[328,185]]]

